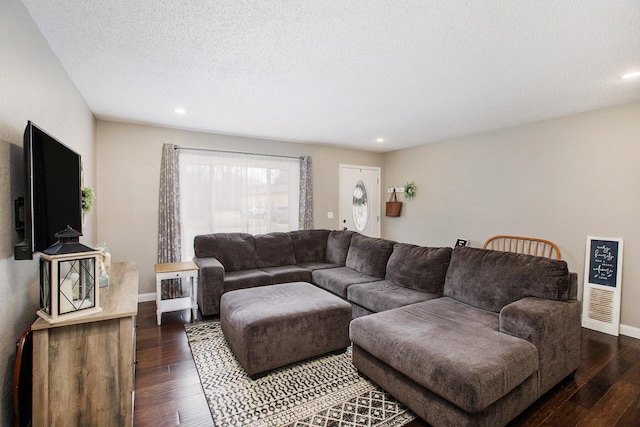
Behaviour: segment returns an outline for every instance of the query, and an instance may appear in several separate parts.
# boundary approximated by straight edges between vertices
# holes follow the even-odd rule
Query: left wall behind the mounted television
[[[0,425],[12,425],[15,343],[39,305],[38,263],[15,261],[19,236],[13,200],[24,195],[22,133],[27,120],[82,155],[85,184],[95,183],[95,119],[18,0],[0,1]],[[83,242],[93,243],[90,214]]]

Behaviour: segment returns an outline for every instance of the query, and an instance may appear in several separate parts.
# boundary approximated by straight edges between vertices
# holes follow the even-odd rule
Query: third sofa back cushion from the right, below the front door
[[[368,276],[384,278],[395,242],[354,234],[345,265]]]

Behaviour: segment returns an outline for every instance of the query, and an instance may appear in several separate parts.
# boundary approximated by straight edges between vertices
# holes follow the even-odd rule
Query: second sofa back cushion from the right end
[[[387,262],[386,279],[417,291],[442,294],[451,248],[427,248],[396,243]]]

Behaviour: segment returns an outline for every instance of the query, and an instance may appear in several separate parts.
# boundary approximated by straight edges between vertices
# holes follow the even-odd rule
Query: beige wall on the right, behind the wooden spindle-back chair
[[[540,237],[580,281],[586,237],[622,237],[621,322],[637,335],[638,159],[640,103],[387,153],[383,186],[415,181],[418,192],[385,218],[385,237],[475,247],[496,234]]]

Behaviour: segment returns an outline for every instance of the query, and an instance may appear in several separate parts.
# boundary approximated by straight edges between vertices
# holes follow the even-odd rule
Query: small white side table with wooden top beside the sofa
[[[162,281],[168,279],[191,279],[191,296],[162,299]],[[193,261],[156,264],[156,316],[158,326],[162,324],[162,313],[190,308],[192,320],[198,315],[198,266]]]

